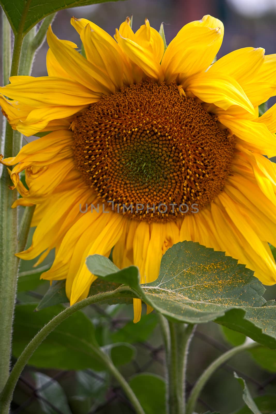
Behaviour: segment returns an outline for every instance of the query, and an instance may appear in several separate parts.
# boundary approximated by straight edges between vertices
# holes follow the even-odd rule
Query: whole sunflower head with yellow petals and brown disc
[[[49,27],[48,76],[1,88],[12,128],[45,133],[2,159],[22,195],[12,207],[36,205],[31,247],[17,256],[39,264],[55,248],[42,278],[66,279],[71,304],[96,279],[88,255],[113,249],[118,267],[137,265],[152,282],[184,240],[274,284],[276,168],[264,155],[276,154],[276,107],[258,118],[258,106],[276,94],[276,55],[247,47],[214,62],[224,29],[209,15],[167,48],[147,19],[134,33],[127,18],[115,39],[86,19],[71,24],[86,58]]]

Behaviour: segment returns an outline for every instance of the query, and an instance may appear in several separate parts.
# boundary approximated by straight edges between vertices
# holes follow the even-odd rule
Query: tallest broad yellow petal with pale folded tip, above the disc
[[[205,71],[211,65],[223,39],[220,20],[209,15],[186,24],[170,42],[161,62],[166,81],[172,82],[180,73],[180,83]]]

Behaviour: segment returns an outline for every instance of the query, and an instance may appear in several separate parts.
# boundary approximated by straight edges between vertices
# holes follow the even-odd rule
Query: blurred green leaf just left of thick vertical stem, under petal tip
[[[153,332],[157,324],[156,313],[142,315],[138,324],[132,321],[111,335],[112,342],[144,342]]]

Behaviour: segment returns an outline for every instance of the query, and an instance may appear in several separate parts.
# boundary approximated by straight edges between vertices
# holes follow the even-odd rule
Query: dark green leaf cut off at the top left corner
[[[23,34],[40,22],[49,14],[70,7],[87,6],[91,4],[106,3],[118,0],[0,0],[12,30],[16,34],[19,31],[20,22],[25,16]]]

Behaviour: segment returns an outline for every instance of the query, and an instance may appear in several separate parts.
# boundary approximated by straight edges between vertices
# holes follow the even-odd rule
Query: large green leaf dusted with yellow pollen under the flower
[[[264,287],[253,272],[222,252],[177,243],[163,256],[158,279],[143,285],[135,266],[119,270],[99,255],[89,256],[86,264],[103,280],[130,286],[167,318],[185,323],[215,320],[276,348],[276,306],[266,303]],[[113,273],[108,274],[110,269]]]

